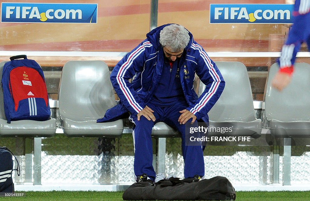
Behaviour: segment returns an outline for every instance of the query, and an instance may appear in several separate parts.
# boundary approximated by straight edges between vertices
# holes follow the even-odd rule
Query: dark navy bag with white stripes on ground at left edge
[[[20,165],[16,157],[17,169],[13,169],[12,155],[15,157],[15,155],[7,147],[0,146],[0,192],[14,192],[14,183],[12,180],[13,170],[16,170],[17,175],[20,176]]]

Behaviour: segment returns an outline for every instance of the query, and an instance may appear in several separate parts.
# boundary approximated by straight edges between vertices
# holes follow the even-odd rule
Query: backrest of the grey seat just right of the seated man
[[[246,67],[240,62],[215,62],[225,80],[225,88],[219,100],[208,112],[210,121],[253,121],[255,111]],[[200,81],[199,96],[205,89]]]

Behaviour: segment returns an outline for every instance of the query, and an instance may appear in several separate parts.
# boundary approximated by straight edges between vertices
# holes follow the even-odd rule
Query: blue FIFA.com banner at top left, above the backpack
[[[6,3],[1,4],[1,22],[97,23],[97,4]]]

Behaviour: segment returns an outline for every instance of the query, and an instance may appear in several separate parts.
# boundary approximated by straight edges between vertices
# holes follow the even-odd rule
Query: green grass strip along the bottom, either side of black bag
[[[0,197],[0,201],[121,201],[122,191],[48,191],[25,192],[25,197]],[[238,191],[236,201],[308,201],[310,191]]]

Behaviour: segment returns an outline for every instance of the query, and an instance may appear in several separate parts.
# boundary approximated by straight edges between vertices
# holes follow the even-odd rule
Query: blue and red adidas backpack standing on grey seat
[[[3,66],[1,81],[7,123],[48,120],[51,110],[41,66],[26,55],[13,56],[10,60]]]

